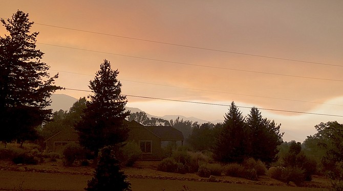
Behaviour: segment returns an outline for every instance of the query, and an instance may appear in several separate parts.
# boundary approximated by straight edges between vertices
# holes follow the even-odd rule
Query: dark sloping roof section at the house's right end
[[[144,126],[145,129],[153,132],[161,140],[184,140],[181,131],[170,126]]]

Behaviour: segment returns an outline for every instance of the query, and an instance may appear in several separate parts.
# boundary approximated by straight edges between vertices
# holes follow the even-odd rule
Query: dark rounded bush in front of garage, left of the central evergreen
[[[63,164],[72,166],[76,159],[82,159],[83,157],[84,151],[80,145],[75,143],[68,144],[63,151]]]

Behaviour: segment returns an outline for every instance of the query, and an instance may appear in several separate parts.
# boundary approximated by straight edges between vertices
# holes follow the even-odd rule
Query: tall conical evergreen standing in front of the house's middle
[[[80,144],[97,154],[104,146],[123,142],[128,137],[128,128],[123,120],[130,114],[125,112],[126,96],[121,95],[118,70],[112,70],[109,61],[100,64],[94,80],[90,81],[90,95],[81,121],[75,125]]]

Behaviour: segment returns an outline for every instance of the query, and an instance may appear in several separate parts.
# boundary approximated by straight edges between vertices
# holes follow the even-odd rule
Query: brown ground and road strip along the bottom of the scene
[[[313,176],[301,187],[262,176],[258,181],[228,176],[216,177],[208,182],[196,174],[176,174],[157,171],[158,161],[139,161],[131,168],[124,168],[133,190],[323,190],[328,188],[326,178]],[[16,165],[0,161],[0,190],[82,190],[92,179],[94,169],[89,166],[66,167],[61,161],[37,165]],[[231,188],[231,189],[229,189]]]

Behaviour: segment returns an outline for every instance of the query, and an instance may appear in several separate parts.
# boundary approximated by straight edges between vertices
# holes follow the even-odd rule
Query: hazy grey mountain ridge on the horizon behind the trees
[[[76,98],[73,98],[71,96],[68,96],[66,94],[52,94],[51,96],[51,106],[48,107],[48,109],[52,109],[53,111],[59,111],[60,109],[62,110],[69,110],[73,104],[78,100]],[[135,108],[135,107],[126,107],[126,110],[130,110],[131,113],[136,113],[136,112],[141,112],[142,110],[139,108]],[[146,113],[146,116],[151,118],[151,117],[156,117],[156,118],[163,118],[164,120],[175,120],[176,118],[180,117],[180,119],[183,119],[184,121],[192,121],[192,122],[198,122],[199,124],[203,124],[203,123],[208,123],[208,121],[205,120],[201,120],[200,118],[196,118],[196,117],[185,117],[182,115],[164,115],[164,116],[155,116],[155,115],[151,115]],[[222,123],[223,121],[221,120],[216,120],[216,121],[211,121],[211,123],[213,124],[217,124],[217,123]]]

